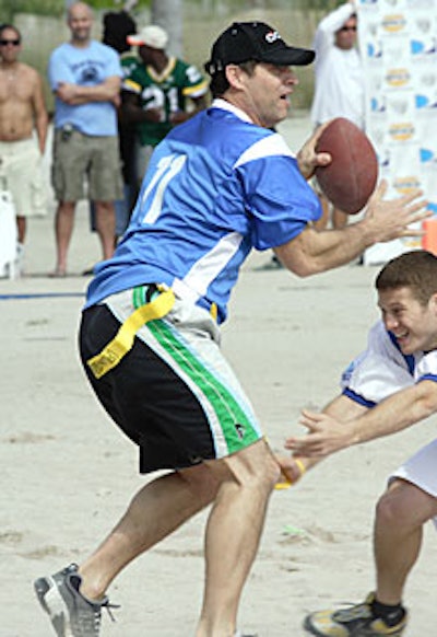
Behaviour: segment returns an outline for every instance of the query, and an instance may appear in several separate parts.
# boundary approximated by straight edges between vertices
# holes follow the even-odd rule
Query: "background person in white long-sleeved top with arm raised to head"
[[[311,105],[311,121],[316,127],[334,117],[346,117],[364,128],[364,71],[356,47],[357,16],[354,0],[342,4],[319,23],[314,49],[316,50],[316,82]],[[321,198],[323,216],[317,228],[328,225],[330,202]],[[332,225],[343,228],[347,216],[332,210]]]

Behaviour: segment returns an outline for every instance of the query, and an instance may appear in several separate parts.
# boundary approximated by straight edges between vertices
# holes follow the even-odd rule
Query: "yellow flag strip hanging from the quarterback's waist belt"
[[[158,290],[161,291],[160,286]],[[122,357],[132,349],[135,334],[140,327],[149,323],[149,321],[163,319],[174,304],[175,294],[173,290],[166,289],[161,291],[156,299],[132,312],[121,325],[115,338],[99,354],[86,361],[95,378],[99,379],[114,369]]]

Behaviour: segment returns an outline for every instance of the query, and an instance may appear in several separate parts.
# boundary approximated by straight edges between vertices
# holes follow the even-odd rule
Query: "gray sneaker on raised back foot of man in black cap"
[[[70,564],[63,570],[34,582],[38,601],[58,637],[98,637],[103,607],[114,622],[110,609],[118,606],[109,604],[106,597],[98,602],[84,598],[79,592],[81,581],[78,565]]]

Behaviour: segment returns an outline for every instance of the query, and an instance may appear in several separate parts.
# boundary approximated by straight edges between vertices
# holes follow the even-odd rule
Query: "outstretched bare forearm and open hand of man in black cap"
[[[362,221],[321,232],[308,225],[288,243],[276,246],[276,256],[287,269],[307,277],[345,265],[375,243],[422,235],[422,230],[411,228],[432,215],[422,190],[383,200],[386,192],[387,183],[382,182],[370,197]]]

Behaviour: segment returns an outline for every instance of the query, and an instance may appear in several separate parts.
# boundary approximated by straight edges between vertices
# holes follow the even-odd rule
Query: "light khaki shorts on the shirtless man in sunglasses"
[[[42,164],[43,157],[35,138],[0,141],[0,189],[4,187],[11,193],[17,217],[47,213],[47,187]]]

